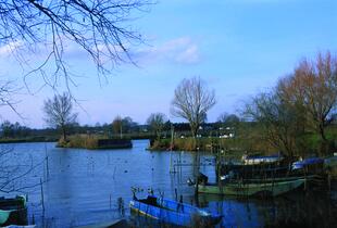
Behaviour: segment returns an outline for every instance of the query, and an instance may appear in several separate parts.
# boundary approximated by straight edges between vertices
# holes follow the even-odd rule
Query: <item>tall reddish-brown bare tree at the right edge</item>
[[[309,127],[327,141],[325,129],[337,107],[337,59],[327,52],[319,53],[314,62],[301,61],[282,91],[307,112]]]

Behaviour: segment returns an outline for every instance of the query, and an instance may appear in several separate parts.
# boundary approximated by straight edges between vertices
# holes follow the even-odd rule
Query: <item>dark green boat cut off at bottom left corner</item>
[[[24,195],[0,198],[0,226],[27,225],[27,206]]]

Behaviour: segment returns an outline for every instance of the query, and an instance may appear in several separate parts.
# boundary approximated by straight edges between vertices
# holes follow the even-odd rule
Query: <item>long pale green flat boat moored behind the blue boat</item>
[[[198,185],[198,192],[210,194],[226,194],[250,197],[257,194],[267,194],[276,197],[295,190],[307,181],[305,178],[291,179],[285,181],[262,181],[262,182],[226,182],[222,185],[205,183]]]

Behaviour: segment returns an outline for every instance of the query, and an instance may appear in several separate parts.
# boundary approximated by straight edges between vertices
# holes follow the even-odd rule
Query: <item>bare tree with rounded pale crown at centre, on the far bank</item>
[[[191,135],[197,136],[200,124],[205,121],[208,111],[215,104],[214,90],[208,89],[199,77],[183,79],[174,91],[171,112],[174,116],[189,122]]]

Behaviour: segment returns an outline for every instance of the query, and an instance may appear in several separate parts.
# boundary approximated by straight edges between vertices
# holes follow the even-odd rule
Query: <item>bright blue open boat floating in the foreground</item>
[[[155,195],[148,195],[141,200],[134,197],[129,206],[136,213],[177,226],[209,227],[216,225],[222,219],[219,214],[212,214],[186,203],[157,198]]]

